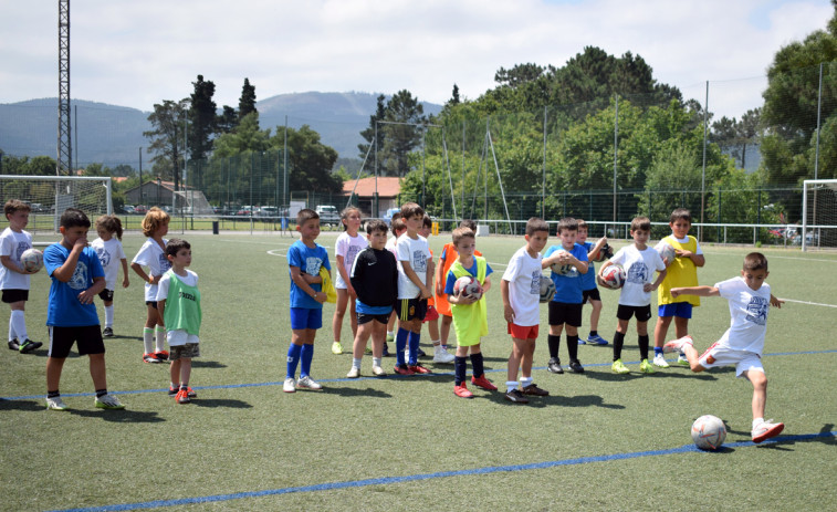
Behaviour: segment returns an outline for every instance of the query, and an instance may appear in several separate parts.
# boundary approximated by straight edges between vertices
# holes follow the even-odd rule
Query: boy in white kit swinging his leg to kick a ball
[[[753,385],[753,442],[778,436],[784,424],[764,420],[767,401],[767,377],[762,366],[764,336],[767,332],[767,310],[782,307],[781,301],[771,294],[767,279],[767,259],[760,252],[744,258],[740,278],[732,278],[714,286],[686,286],[671,289],[671,295],[722,296],[730,303],[730,328],[707,352],[698,355],[692,337],[687,335],[663,346],[667,353],[686,353],[692,372],[699,373],[716,366],[735,365],[735,376],[744,377]]]

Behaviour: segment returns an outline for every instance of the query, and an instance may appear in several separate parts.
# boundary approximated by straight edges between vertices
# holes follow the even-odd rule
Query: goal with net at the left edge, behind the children
[[[19,199],[32,208],[27,231],[55,232],[67,208],[84,211],[91,220],[113,212],[111,177],[0,175],[3,203]]]

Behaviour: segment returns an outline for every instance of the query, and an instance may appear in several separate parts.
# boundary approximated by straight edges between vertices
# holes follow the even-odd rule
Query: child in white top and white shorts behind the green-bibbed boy
[[[145,304],[146,321],[143,330],[143,344],[145,353],[143,361],[145,363],[163,363],[168,359],[168,352],[165,351],[166,325],[157,312],[157,284],[163,274],[171,268],[171,263],[166,258],[166,240],[168,233],[168,213],[157,207],[148,210],[143,219],[143,234],[148,240],[139,248],[139,252],[130,262],[130,268],[139,278],[145,281]],[[148,273],[143,270],[148,268]],[[156,327],[156,332],[155,332]]]

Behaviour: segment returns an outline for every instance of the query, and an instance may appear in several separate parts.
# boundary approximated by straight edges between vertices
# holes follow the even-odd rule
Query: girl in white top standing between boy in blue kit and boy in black
[[[357,312],[355,311],[355,300],[357,294],[352,288],[352,265],[355,263],[355,257],[366,249],[369,242],[366,237],[358,234],[360,229],[360,210],[355,207],[348,207],[341,213],[343,222],[343,233],[337,237],[334,244],[334,253],[337,258],[337,279],[334,280],[334,288],[337,289],[337,305],[334,309],[334,318],[332,318],[332,331],[334,332],[334,343],[332,352],[343,354],[341,344],[341,333],[343,331],[343,316],[346,314],[346,304],[349,306],[349,321],[352,324],[352,339],[357,335]]]

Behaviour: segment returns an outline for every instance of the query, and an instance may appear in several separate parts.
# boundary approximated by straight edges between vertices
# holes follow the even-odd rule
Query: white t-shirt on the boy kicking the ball
[[[730,328],[718,343],[761,356],[767,333],[767,310],[771,306],[770,284],[762,283],[762,288],[752,290],[743,278],[737,276],[715,283],[715,288],[730,303]]]

